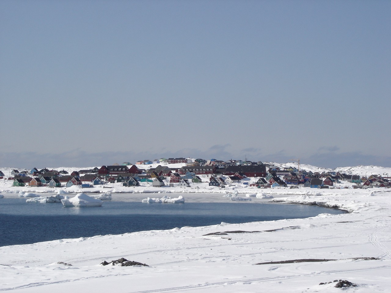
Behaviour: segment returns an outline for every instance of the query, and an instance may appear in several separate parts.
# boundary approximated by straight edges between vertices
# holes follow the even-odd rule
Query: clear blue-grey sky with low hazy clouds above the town
[[[0,0],[0,166],[391,167],[390,1]]]

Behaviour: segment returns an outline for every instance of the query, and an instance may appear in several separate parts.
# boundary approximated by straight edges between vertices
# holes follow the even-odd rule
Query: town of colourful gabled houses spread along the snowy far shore
[[[181,167],[170,168],[179,164]],[[152,167],[156,166],[156,167]],[[12,186],[47,186],[52,188],[80,186],[91,188],[97,185],[117,184],[137,187],[147,182],[152,187],[190,187],[198,183],[208,183],[216,188],[226,188],[233,184],[244,187],[276,188],[300,186],[309,188],[333,188],[335,184],[345,181],[353,188],[391,187],[389,177],[370,175],[348,175],[341,172],[311,172],[298,168],[279,168],[273,164],[217,159],[161,158],[154,161],[143,160],[136,164],[124,162],[104,165],[89,170],[12,170],[6,176],[0,170],[0,179],[12,180]]]

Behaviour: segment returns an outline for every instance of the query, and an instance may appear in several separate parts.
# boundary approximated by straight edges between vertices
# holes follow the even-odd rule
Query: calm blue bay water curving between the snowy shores
[[[261,203],[147,204],[106,201],[102,207],[63,207],[0,199],[0,246],[143,230],[307,218],[337,209]]]

